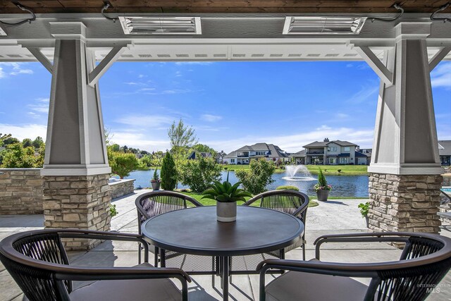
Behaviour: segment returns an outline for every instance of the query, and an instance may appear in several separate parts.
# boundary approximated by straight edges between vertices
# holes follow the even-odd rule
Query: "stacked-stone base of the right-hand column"
[[[435,175],[369,174],[369,228],[374,232],[438,233],[440,188]]]

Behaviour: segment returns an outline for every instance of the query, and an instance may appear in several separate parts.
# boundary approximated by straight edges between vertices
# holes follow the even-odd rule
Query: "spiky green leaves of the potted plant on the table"
[[[202,199],[214,199],[216,202],[232,203],[237,201],[245,202],[245,197],[252,197],[252,195],[238,188],[241,182],[235,183],[235,185],[230,184],[227,180],[223,183],[214,181],[210,189],[202,192]]]

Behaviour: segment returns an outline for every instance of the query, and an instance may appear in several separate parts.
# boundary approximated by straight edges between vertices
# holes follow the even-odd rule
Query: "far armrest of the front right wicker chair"
[[[408,242],[412,233],[376,232],[376,233],[346,233],[321,235],[314,241],[315,257],[320,257],[320,247],[325,242]],[[405,236],[405,237],[403,237]]]

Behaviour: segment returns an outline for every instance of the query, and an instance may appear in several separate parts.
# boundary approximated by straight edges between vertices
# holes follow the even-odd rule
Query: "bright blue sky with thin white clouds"
[[[439,140],[451,140],[451,62],[431,73]],[[0,63],[0,133],[46,137],[51,76]],[[364,62],[114,63],[100,80],[104,123],[121,145],[169,147],[179,118],[218,151],[268,142],[297,152],[314,140],[371,147],[379,80]]]

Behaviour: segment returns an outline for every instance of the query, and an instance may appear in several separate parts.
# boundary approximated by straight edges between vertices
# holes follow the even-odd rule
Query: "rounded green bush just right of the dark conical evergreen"
[[[211,158],[187,160],[181,168],[180,181],[194,192],[203,192],[214,181],[221,180],[221,166]]]

